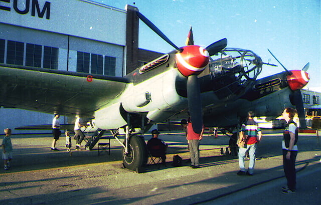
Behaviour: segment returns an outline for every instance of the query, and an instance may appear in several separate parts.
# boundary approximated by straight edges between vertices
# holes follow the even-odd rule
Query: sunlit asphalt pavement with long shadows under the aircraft
[[[121,168],[121,146],[111,140],[111,154],[94,150],[51,151],[50,135],[13,135],[12,169],[0,169],[0,204],[321,204],[321,151],[315,134],[299,135],[297,191],[285,195],[281,131],[263,131],[253,176],[238,176],[236,156],[225,152],[229,138],[201,141],[201,168],[189,167],[183,133],[162,133],[169,144],[167,166],[149,165],[143,173]],[[148,140],[150,135],[145,135]],[[74,141],[73,141],[74,142]],[[173,155],[183,166],[173,167]],[[248,162],[246,161],[246,165]]]

